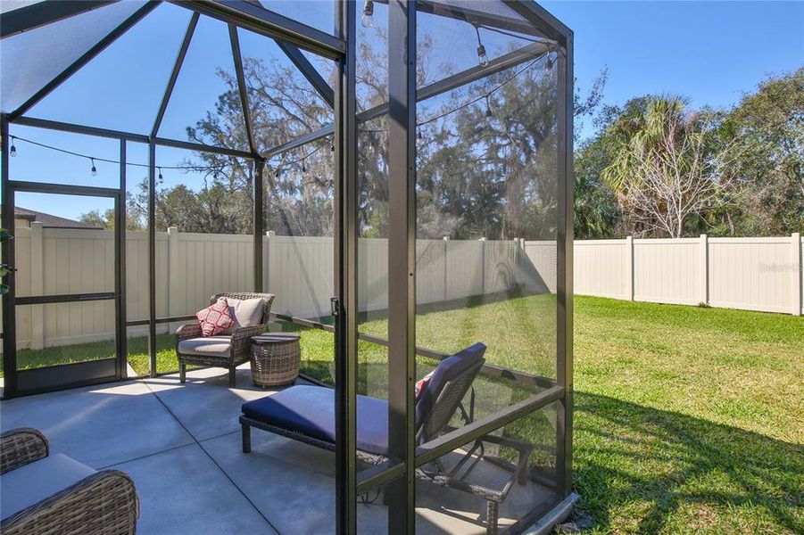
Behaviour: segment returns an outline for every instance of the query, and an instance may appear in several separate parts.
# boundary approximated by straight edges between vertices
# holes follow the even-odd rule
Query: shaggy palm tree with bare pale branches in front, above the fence
[[[684,235],[688,219],[717,205],[733,183],[732,146],[711,150],[711,119],[678,96],[651,97],[616,123],[614,160],[601,174],[637,234]]]

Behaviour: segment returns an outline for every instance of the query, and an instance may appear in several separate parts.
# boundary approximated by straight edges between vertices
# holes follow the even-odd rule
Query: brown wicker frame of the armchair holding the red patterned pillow
[[[225,367],[229,371],[229,388],[236,385],[236,367],[244,362],[248,362],[252,357],[252,336],[264,333],[268,328],[270,317],[270,306],[274,300],[273,293],[253,293],[253,292],[223,292],[211,296],[210,304],[214,304],[220,297],[227,297],[237,300],[261,299],[262,300],[262,320],[260,325],[238,327],[232,330],[231,347],[228,357],[216,357],[213,355],[189,355],[179,350],[179,343],[190,338],[202,336],[201,325],[188,324],[181,325],[176,331],[176,355],[178,356],[178,377],[181,383],[186,381],[187,365],[190,366],[213,366]]]

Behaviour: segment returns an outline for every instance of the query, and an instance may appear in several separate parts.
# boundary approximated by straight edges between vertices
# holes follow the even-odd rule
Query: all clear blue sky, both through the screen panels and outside
[[[303,12],[305,7],[304,3],[273,4],[288,15]],[[609,68],[605,103],[624,103],[636,95],[678,93],[688,96],[693,107],[727,107],[739,102],[743,92],[752,90],[767,75],[804,65],[804,2],[550,1],[543,5],[575,31],[578,86],[587,89],[601,69]],[[157,12],[159,16],[146,18],[121,37],[37,105],[31,115],[147,130],[189,17],[186,10],[173,5],[162,5]],[[332,21],[331,10],[307,9],[306,13],[311,17],[308,21],[322,29]],[[199,118],[199,110],[211,109],[223,90],[214,66],[232,69],[225,26],[203,21],[197,32],[208,36],[206,45],[191,46],[161,136],[183,139],[184,127]],[[241,37],[244,55],[281,55],[271,48],[274,45],[265,43],[260,37]],[[137,54],[130,53],[132,45]],[[126,65],[120,76],[107,75],[120,64]],[[589,135],[591,121],[586,120],[584,127],[584,135]],[[117,159],[119,152],[112,140],[32,128],[12,127],[12,134],[97,157]],[[11,162],[12,178],[117,185],[115,165],[98,162],[98,177],[91,177],[87,161],[23,142],[18,142],[17,148],[18,156]],[[163,166],[192,157],[191,152],[162,148],[158,154],[157,163]],[[129,161],[147,161],[145,147],[129,144]],[[128,169],[129,182],[144,176],[144,169]],[[166,170],[164,176],[166,184],[182,181],[197,186],[202,180],[178,171]],[[82,198],[69,201],[27,195],[18,204],[70,218],[106,205]]]

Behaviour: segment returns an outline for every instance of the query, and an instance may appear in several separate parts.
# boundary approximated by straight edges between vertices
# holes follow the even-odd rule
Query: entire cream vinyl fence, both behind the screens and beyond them
[[[127,233],[127,319],[148,317],[147,235]],[[18,227],[18,296],[110,292],[114,288],[111,231]],[[268,233],[263,287],[276,294],[273,310],[300,317],[329,313],[333,243],[326,237]],[[387,306],[387,246],[359,243],[359,309]],[[782,238],[576,241],[578,294],[623,300],[802,313],[800,235]],[[556,243],[417,241],[417,302],[433,303],[523,288],[556,291]],[[194,314],[217,292],[253,286],[253,236],[179,233],[156,235],[156,315]],[[114,331],[112,300],[17,307],[21,349],[91,342]],[[176,325],[159,325],[167,333]],[[145,327],[130,327],[129,336]]]

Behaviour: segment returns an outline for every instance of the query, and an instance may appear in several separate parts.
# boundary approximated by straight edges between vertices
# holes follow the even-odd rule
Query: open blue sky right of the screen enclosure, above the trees
[[[541,4],[575,32],[578,86],[609,67],[606,103],[677,93],[730,106],[768,74],[804,66],[804,2]]]

